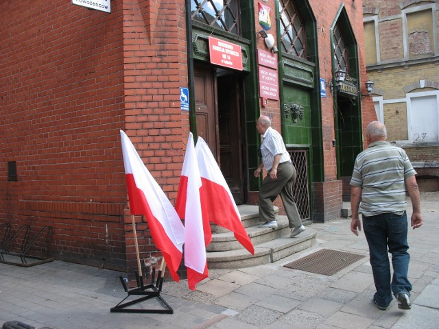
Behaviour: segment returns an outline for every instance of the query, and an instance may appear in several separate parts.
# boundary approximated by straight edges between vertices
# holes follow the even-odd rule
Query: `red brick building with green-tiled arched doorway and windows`
[[[261,114],[302,173],[302,217],[340,216],[362,131],[376,119],[361,97],[361,1],[230,0],[217,4],[217,16],[198,1],[107,2],[110,13],[50,0],[0,3],[0,224],[51,226],[54,258],[132,269],[119,130],[171,202],[191,131],[209,143],[237,204],[254,204]],[[209,36],[239,47],[242,69],[213,64]],[[276,77],[267,95],[264,72]],[[158,255],[145,220],[136,223],[141,257]]]

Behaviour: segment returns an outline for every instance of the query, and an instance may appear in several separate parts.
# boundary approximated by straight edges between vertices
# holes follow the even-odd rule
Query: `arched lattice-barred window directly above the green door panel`
[[[307,59],[305,25],[296,10],[294,1],[281,0],[280,3],[282,50],[293,56]]]

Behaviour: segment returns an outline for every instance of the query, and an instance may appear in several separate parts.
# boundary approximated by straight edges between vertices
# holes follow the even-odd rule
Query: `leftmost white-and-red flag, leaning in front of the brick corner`
[[[145,216],[152,239],[161,250],[172,278],[178,282],[185,227],[122,130],[121,141],[131,215]]]

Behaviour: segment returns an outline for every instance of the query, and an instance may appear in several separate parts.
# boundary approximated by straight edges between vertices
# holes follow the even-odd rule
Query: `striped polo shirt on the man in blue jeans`
[[[364,216],[392,212],[402,215],[405,178],[416,175],[407,154],[386,141],[370,143],[358,154],[351,185],[362,188],[359,210]]]

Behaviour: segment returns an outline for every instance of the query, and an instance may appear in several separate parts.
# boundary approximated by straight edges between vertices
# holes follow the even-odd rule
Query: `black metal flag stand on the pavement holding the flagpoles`
[[[110,312],[119,312],[119,313],[160,313],[160,314],[173,314],[174,310],[167,304],[167,302],[163,299],[163,297],[160,295],[162,291],[163,286],[163,276],[161,276],[162,271],[158,271],[157,273],[157,280],[156,278],[156,271],[153,268],[152,269],[152,276],[151,276],[151,284],[147,284],[146,286],[143,285],[143,278],[139,276],[138,271],[134,271],[136,275],[137,280],[137,287],[128,289],[125,280],[123,280],[122,276],[119,276],[119,279],[121,280],[123,289],[125,289],[126,293],[128,294],[119,304],[116,306],[110,308]],[[156,282],[154,282],[156,281]],[[125,300],[130,297],[131,295],[139,295],[142,297],[138,297],[134,300],[130,300],[128,302],[125,302]],[[150,300],[151,298],[158,298],[158,300],[161,302],[163,308],[127,308],[128,306],[132,306],[134,304],[138,304],[141,302],[144,302],[145,300]],[[123,303],[125,302],[125,303]]]

